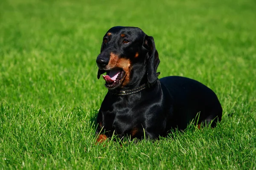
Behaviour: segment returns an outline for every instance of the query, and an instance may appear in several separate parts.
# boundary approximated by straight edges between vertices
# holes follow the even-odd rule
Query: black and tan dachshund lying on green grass
[[[183,130],[221,121],[222,108],[207,86],[185,77],[157,78],[160,63],[153,37],[140,28],[116,26],[105,34],[96,59],[108,93],[97,117],[97,141],[113,134],[131,139],[157,139],[169,130]]]

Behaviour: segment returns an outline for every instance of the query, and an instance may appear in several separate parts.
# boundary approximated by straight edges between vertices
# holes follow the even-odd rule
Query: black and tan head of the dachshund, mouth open
[[[116,26],[103,37],[96,59],[105,86],[110,89],[131,87],[137,83],[152,85],[157,81],[160,63],[153,37],[137,27]]]

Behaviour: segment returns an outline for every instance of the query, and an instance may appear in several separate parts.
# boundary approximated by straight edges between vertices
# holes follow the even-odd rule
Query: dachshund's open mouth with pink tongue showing
[[[106,88],[108,89],[115,89],[122,84],[122,81],[125,77],[125,71],[121,68],[114,68],[112,70],[106,70],[107,75],[102,75],[103,79],[105,80]]]

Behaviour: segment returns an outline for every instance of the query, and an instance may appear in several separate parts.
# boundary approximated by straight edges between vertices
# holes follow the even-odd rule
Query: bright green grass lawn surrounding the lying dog
[[[0,169],[256,169],[254,0],[0,0]],[[223,120],[157,142],[95,144],[112,26],[153,36],[160,77],[197,79]]]

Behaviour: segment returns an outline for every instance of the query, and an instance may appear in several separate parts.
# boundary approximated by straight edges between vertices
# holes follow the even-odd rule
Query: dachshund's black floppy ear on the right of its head
[[[154,43],[154,38],[151,36],[144,37],[143,46],[148,50],[147,54],[147,76],[148,84],[153,85],[157,81],[157,67],[160,63],[158,52]]]

